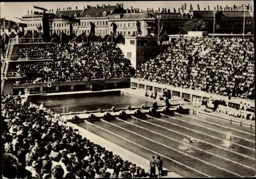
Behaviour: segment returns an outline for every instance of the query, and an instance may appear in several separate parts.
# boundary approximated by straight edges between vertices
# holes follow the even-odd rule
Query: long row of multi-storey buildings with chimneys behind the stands
[[[50,13],[53,14],[53,9],[50,10]],[[67,35],[70,35],[70,26],[62,23],[60,15],[74,16],[74,18],[80,19],[80,25],[73,25],[73,32],[76,35],[81,33],[90,33],[91,25],[90,22],[95,25],[95,35],[111,35],[113,32],[113,23],[117,25],[116,32],[124,36],[134,36],[137,33],[137,23],[140,24],[141,36],[153,35],[158,36],[158,31],[163,29],[167,31],[168,34],[177,34],[180,29],[184,27],[184,24],[188,20],[193,19],[202,19],[208,23],[207,29],[209,33],[213,32],[214,21],[216,23],[215,33],[243,33],[243,24],[244,24],[244,8],[241,7],[220,7],[217,5],[215,11],[212,11],[208,8],[200,9],[199,5],[197,10],[193,10],[193,7],[190,5],[190,8],[186,8],[186,4],[182,5],[181,8],[176,10],[173,9],[173,12],[170,12],[170,9],[163,8],[160,11],[147,8],[146,11],[134,9],[123,8],[122,4],[116,4],[116,6],[96,6],[96,7],[83,7],[80,10],[76,7],[75,10],[72,10],[71,7],[67,10],[57,9],[54,13],[55,16],[51,20],[50,24],[50,33],[64,32]],[[22,20],[28,21],[27,30],[37,30],[37,27],[41,25],[42,15],[27,14],[23,16]],[[245,10],[245,33],[253,33],[254,29],[254,14],[252,8],[246,6]],[[163,27],[163,28],[162,28]]]

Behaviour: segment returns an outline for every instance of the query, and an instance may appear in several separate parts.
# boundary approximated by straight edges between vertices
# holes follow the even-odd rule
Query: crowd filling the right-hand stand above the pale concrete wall
[[[136,78],[254,99],[254,40],[184,37],[137,68]]]

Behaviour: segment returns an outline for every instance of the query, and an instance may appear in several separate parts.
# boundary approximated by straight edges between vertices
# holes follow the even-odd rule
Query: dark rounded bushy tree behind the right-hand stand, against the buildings
[[[207,23],[203,20],[189,20],[184,24],[184,32],[187,31],[203,31],[206,29]]]

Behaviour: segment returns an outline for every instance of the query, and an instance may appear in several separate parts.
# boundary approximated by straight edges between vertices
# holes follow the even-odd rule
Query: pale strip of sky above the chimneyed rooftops
[[[158,8],[166,8],[166,10],[169,8],[171,11],[173,11],[174,8],[178,10],[178,8],[181,8],[184,3],[186,3],[187,9],[190,7],[190,4],[193,6],[193,10],[197,10],[197,5],[200,6],[200,10],[203,10],[204,8],[207,9],[207,6],[210,6],[210,10],[213,10],[215,6],[219,5],[222,7],[226,7],[228,5],[229,7],[236,5],[236,6],[242,6],[242,4],[250,4],[253,9],[253,1],[113,1],[113,2],[1,2],[0,7],[0,15],[1,18],[3,17],[22,17],[23,15],[28,14],[28,10],[31,13],[31,10],[34,10],[33,6],[42,7],[45,9],[53,9],[54,12],[57,8],[60,8],[63,10],[63,8],[67,9],[67,7],[72,7],[72,10],[75,9],[77,6],[78,9],[83,9],[83,7],[87,5],[91,6],[102,6],[105,4],[106,6],[110,5],[116,5],[117,3],[123,4],[123,8],[129,8],[131,9],[131,6],[133,8],[139,8],[146,10],[147,8],[154,8],[155,10],[158,10]]]

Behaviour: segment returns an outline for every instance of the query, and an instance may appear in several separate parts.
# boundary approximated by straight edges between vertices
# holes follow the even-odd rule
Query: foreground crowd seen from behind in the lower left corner
[[[3,178],[149,177],[48,110],[2,95]]]

